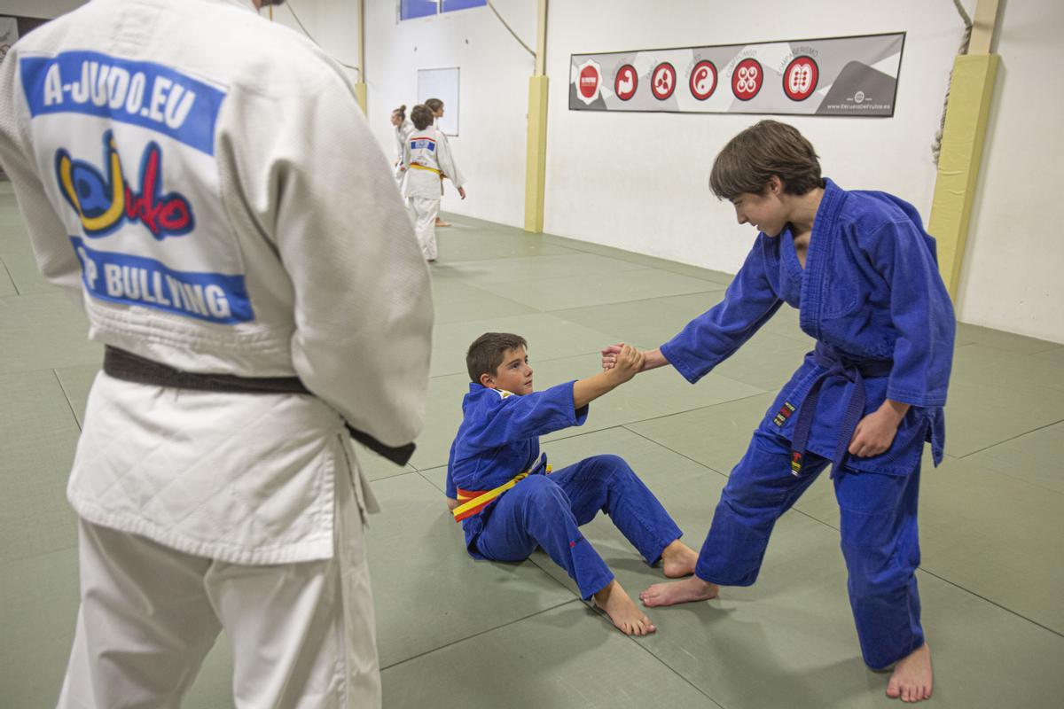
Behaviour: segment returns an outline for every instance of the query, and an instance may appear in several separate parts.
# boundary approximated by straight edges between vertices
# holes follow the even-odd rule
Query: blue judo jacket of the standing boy
[[[885,192],[847,191],[826,181],[813,222],[805,268],[789,227],[764,232],[728,287],[724,301],[662,345],[669,362],[695,383],[727,359],[786,303],[799,309],[803,332],[817,341],[780,391],[760,427],[794,440],[807,395],[819,389],[805,449],[836,459],[847,404],[857,384],[829,373],[828,358],[879,365],[863,379],[861,416],[884,399],[910,404],[891,449],[847,456],[855,470],[903,475],[915,470],[925,440],[942,459],[953,356],[953,307],[938,274],[934,239],[911,204]],[[875,369],[875,368],[874,368]],[[819,384],[817,384],[819,382]],[[848,441],[846,441],[848,444]],[[837,465],[836,465],[837,468]],[[837,472],[837,471],[836,471]]]

